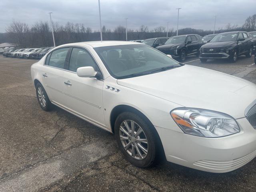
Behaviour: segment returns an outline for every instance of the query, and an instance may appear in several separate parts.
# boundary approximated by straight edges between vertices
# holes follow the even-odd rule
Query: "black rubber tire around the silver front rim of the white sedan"
[[[130,149],[130,147],[132,147],[132,146],[136,147],[135,145],[138,144],[137,142],[136,142],[137,144],[135,144],[135,143],[133,143],[134,141],[132,142],[132,140],[130,140],[130,138],[132,138],[133,136],[129,136],[129,140],[127,140],[127,142],[132,142],[132,144],[129,146],[128,150],[125,150],[125,148],[121,142],[120,132],[122,133],[122,131],[120,131],[120,126],[125,120],[135,122],[137,124],[137,126],[140,126],[140,128],[142,128],[143,134],[146,136],[147,143],[148,143],[148,144],[146,144],[147,155],[140,160],[136,159],[135,157],[132,157],[132,154],[128,154],[128,150],[132,150],[132,149]],[[114,129],[115,129],[115,137],[116,137],[118,146],[119,146],[122,154],[124,155],[125,159],[128,162],[134,164],[137,167],[141,167],[141,168],[146,168],[146,167],[152,166],[152,164],[155,164],[157,162],[156,155],[158,155],[157,154],[158,151],[161,151],[161,150],[157,150],[158,142],[156,142],[157,141],[157,138],[155,136],[156,134],[154,134],[154,130],[153,130],[154,128],[152,127],[152,125],[147,123],[143,118],[141,118],[140,116],[138,116],[137,114],[134,114],[132,112],[123,112],[116,118]],[[130,132],[130,133],[132,133],[132,132]],[[141,143],[139,143],[139,144],[141,144]],[[141,150],[141,152],[143,152],[143,151]],[[136,150],[136,155],[138,156],[137,150]]]

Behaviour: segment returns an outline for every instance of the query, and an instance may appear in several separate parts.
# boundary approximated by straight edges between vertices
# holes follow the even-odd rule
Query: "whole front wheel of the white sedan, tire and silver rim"
[[[156,162],[156,136],[140,116],[123,112],[115,122],[115,137],[126,160],[145,168]]]

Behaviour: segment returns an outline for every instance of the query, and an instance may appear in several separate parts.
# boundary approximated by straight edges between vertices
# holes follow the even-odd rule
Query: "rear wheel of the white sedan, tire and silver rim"
[[[40,89],[43,91],[43,94],[41,94],[41,95],[44,98],[44,101],[42,101],[42,98],[40,99],[40,94],[39,94]],[[44,87],[40,83],[36,84],[36,97],[37,97],[40,107],[43,110],[50,111],[52,109],[52,102],[49,100],[48,95],[47,95],[46,91],[44,90]],[[44,105],[44,102],[45,102],[45,105]]]

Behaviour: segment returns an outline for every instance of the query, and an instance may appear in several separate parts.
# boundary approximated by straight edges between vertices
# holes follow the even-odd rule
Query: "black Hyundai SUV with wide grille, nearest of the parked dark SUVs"
[[[229,59],[236,62],[237,57],[252,56],[253,40],[250,34],[243,31],[226,32],[216,35],[209,43],[200,48],[200,60]]]

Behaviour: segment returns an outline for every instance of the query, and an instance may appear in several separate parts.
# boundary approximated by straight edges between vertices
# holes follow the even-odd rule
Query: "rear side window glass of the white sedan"
[[[60,48],[53,51],[50,54],[48,65],[52,67],[64,69],[68,49],[69,48]],[[46,62],[47,62],[47,59],[48,59],[48,56],[46,58]]]

